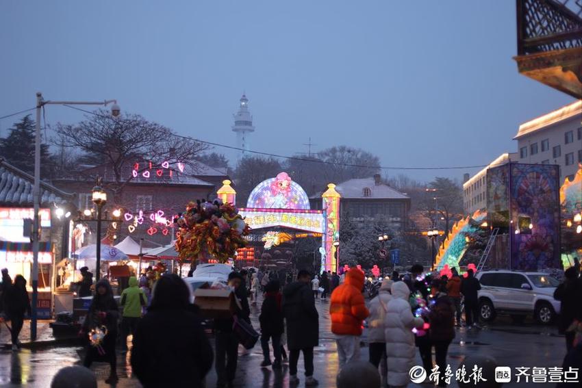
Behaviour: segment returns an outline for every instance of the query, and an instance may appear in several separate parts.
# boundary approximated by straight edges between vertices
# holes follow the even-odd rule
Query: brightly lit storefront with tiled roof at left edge
[[[0,161],[0,268],[8,269],[14,279],[18,274],[27,281],[28,292],[32,292],[33,249],[32,233],[33,177],[14,166]],[[55,291],[66,276],[59,271],[58,264],[68,257],[68,238],[73,194],[40,184],[40,244],[38,252],[38,318],[53,316]],[[57,278],[60,277],[60,283]]]

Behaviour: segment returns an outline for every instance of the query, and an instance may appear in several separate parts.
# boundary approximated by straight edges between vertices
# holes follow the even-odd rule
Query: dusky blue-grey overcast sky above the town
[[[0,47],[0,116],[34,107],[36,91],[118,99],[233,145],[244,90],[253,150],[307,152],[311,137],[383,166],[487,164],[515,151],[520,122],[572,101],[518,74],[512,0],[1,1]],[[47,107],[51,125],[81,118]]]

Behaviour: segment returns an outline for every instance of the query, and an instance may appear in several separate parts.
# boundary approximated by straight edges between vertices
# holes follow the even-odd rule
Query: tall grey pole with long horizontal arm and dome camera
[[[38,211],[40,209],[40,109],[45,105],[105,105],[112,103],[111,114],[114,117],[119,116],[121,109],[116,100],[105,100],[99,102],[93,101],[45,101],[42,99],[42,93],[36,93],[36,125],[34,134],[34,185],[32,187],[32,200],[34,207],[34,230],[32,231],[32,301],[30,317],[30,339],[36,339],[37,323],[37,302],[38,302],[38,248],[40,243],[40,218]]]

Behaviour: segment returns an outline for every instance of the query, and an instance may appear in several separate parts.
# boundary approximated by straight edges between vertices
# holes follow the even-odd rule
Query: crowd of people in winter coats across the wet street
[[[301,354],[305,386],[318,385],[314,378],[314,348],[320,335],[318,296],[323,302],[330,295],[331,332],[336,340],[339,369],[359,361],[366,322],[368,361],[379,368],[384,385],[390,387],[409,383],[416,348],[427,372],[435,366],[445,370],[455,325],[462,324],[461,306],[466,327],[480,328],[477,294],[481,285],[472,270],[461,279],[453,268],[448,279],[431,277],[416,264],[409,274],[400,276],[394,272],[383,279],[379,294],[369,302],[362,292],[364,272],[358,268],[341,276],[335,272],[312,276],[307,270],[300,270],[294,279],[275,271],[241,270],[228,276],[227,285],[237,303],[231,316],[214,319],[213,350],[203,330],[201,313],[191,303],[190,289],[179,276],[164,274],[155,284],[147,276],[141,276],[139,281],[132,276],[129,287],[116,302],[107,280],[101,279],[92,287],[92,274],[87,268],[81,269],[81,274],[84,276],[79,282],[79,294],[91,295],[94,289],[81,328],[81,337],[88,341],[83,365],[90,368],[94,361],[109,363],[106,383],[118,380],[118,346],[121,351],[127,350],[127,337],[132,335],[131,367],[144,387],[205,387],[205,376],[213,363],[217,387],[232,387],[241,345],[240,333],[234,328],[240,322],[252,328],[249,300],[257,305],[260,296],[260,366],[281,370],[282,364],[288,362],[291,385],[301,380]],[[2,270],[0,291],[2,316],[12,322],[12,349],[18,350],[18,333],[25,313],[30,313],[26,280],[16,275],[12,281],[8,271]],[[564,365],[578,365],[582,354],[582,280],[577,268],[566,270],[565,280],[554,296],[561,301],[559,331],[565,334],[568,350]],[[441,376],[438,385],[444,387],[444,374]]]

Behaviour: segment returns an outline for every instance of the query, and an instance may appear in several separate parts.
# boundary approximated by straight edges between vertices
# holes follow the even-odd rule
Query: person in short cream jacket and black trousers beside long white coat
[[[388,302],[392,299],[390,290],[392,289],[390,279],[382,282],[378,295],[370,301],[370,316],[368,316],[368,345],[370,350],[370,363],[375,367],[380,366],[380,376],[383,387],[386,383],[386,337],[384,333],[384,320],[388,311]]]

